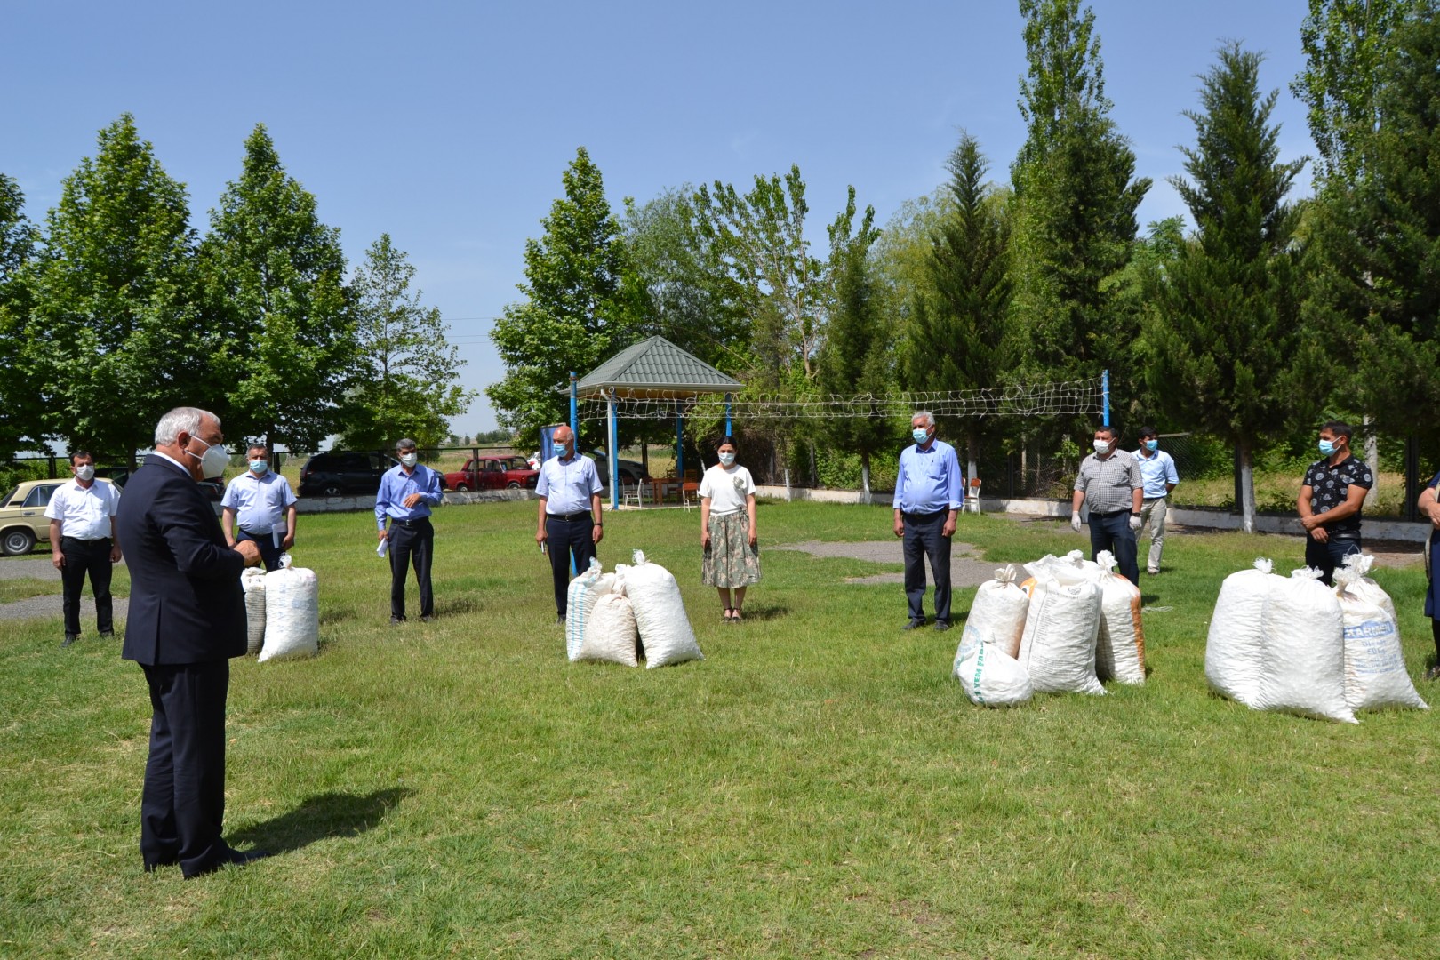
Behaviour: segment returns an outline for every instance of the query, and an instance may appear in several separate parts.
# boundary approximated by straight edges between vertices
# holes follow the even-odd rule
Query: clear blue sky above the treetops
[[[1106,94],[1142,225],[1184,207],[1165,178],[1194,142],[1197,73],[1223,40],[1266,53],[1283,158],[1312,154],[1289,82],[1303,0],[1093,0]],[[135,115],[190,190],[193,225],[239,173],[256,122],[341,230],[354,265],[382,232],[408,250],[481,389],[490,321],[520,298],[521,250],[585,145],[611,204],[681,183],[747,184],[799,164],[816,240],[845,186],[884,223],[945,180],[958,130],[1007,177],[1024,140],[1012,0],[953,3],[12,3],[0,171],[43,220],[95,134]],[[1309,191],[1309,170],[1300,176]],[[583,371],[582,371],[583,373]],[[484,397],[454,422],[492,429]]]

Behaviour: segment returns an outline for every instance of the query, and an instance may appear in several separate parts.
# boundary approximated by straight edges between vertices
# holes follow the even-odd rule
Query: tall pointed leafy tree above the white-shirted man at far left
[[[213,341],[196,305],[184,184],[130,114],[96,147],[46,216],[23,364],[49,436],[132,461],[161,413],[213,402]]]

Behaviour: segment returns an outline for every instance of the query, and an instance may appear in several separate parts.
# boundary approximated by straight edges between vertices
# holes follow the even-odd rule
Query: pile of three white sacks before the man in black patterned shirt
[[[1368,576],[1374,557],[1352,554],[1335,587],[1309,567],[1289,577],[1269,560],[1225,577],[1210,620],[1205,679],[1254,710],[1354,724],[1356,710],[1414,707],[1395,604]]]

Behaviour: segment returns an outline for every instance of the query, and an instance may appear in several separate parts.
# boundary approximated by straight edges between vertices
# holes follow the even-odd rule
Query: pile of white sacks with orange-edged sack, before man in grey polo
[[[1034,691],[1103,694],[1100,681],[1145,682],[1140,592],[1115,571],[1109,551],[1079,550],[1014,566],[981,584],[955,653],[955,678],[985,707],[1028,701]]]

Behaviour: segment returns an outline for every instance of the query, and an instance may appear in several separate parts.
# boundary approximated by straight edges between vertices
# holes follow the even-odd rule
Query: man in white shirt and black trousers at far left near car
[[[115,512],[120,491],[111,484],[95,482],[95,458],[85,450],[71,453],[75,479],[50,497],[45,515],[50,520],[50,563],[60,571],[63,584],[65,642],[81,635],[81,590],[85,574],[95,594],[95,630],[115,636],[114,604],[109,599],[111,564],[120,563],[120,535]]]

